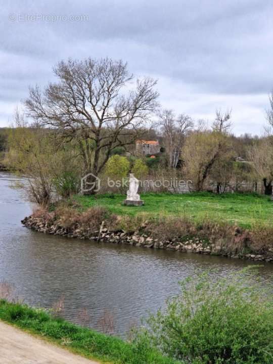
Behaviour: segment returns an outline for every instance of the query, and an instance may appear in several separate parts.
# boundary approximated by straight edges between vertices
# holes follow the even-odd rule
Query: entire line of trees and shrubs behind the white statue
[[[273,95],[262,137],[231,132],[232,112],[216,110],[211,125],[160,108],[156,80],[136,79],[112,59],[59,62],[56,81],[30,87],[15,127],[0,129],[0,158],[27,178],[39,204],[79,192],[88,175],[138,178],[176,175],[196,191],[272,193]],[[137,140],[158,140],[156,155],[137,155]],[[90,191],[94,193],[94,191]]]

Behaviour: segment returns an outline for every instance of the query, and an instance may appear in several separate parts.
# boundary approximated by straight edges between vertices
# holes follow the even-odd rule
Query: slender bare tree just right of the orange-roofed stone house
[[[172,110],[163,110],[159,117],[163,143],[169,157],[169,166],[175,168],[185,136],[193,128],[193,121],[190,116],[185,114],[176,117]]]

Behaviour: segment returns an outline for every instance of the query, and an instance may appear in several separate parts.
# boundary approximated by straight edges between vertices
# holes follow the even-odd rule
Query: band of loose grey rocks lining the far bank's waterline
[[[106,242],[112,244],[125,244],[150,249],[165,249],[183,253],[197,253],[239,259],[249,259],[254,261],[273,262],[273,250],[271,249],[268,249],[265,254],[257,254],[254,251],[249,251],[249,249],[247,249],[247,253],[237,251],[235,249],[233,251],[229,251],[221,246],[221,238],[219,238],[218,240],[219,243],[216,242],[215,244],[212,244],[207,239],[202,240],[198,237],[192,237],[191,239],[185,240],[183,242],[175,238],[170,240],[161,240],[159,238],[154,238],[152,235],[147,235],[144,233],[140,234],[139,231],[141,230],[141,228],[145,227],[143,225],[140,229],[136,229],[134,232],[126,233],[123,230],[115,231],[108,228],[103,228],[103,222],[101,224],[100,230],[93,230],[90,234],[90,231],[86,233],[80,228],[72,229],[71,231],[71,229],[60,225],[59,222],[48,221],[43,217],[33,217],[32,215],[25,217],[21,222],[27,228],[40,233],[60,235],[67,238],[88,239],[96,241],[97,243]],[[234,228],[235,239],[236,235],[239,236],[238,240],[240,240],[242,236],[245,240],[248,239],[248,231],[239,231],[239,228]],[[240,232],[240,234],[238,233],[238,231]]]

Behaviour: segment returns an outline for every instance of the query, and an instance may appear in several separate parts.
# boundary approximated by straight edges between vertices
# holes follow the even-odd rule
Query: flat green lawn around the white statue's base
[[[189,217],[195,220],[210,218],[251,228],[254,224],[271,224],[273,202],[270,197],[256,194],[145,194],[144,206],[123,206],[124,195],[77,196],[76,200],[86,209],[105,206],[118,215]]]

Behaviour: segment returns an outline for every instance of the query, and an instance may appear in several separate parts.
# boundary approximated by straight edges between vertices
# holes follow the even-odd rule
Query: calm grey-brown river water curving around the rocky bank
[[[216,256],[153,250],[68,239],[30,231],[21,219],[31,213],[16,177],[0,172],[0,281],[33,306],[63,302],[66,319],[103,330],[104,319],[124,336],[149,311],[178,292],[178,281],[204,269],[217,276],[253,262]],[[259,274],[273,282],[273,264]]]

